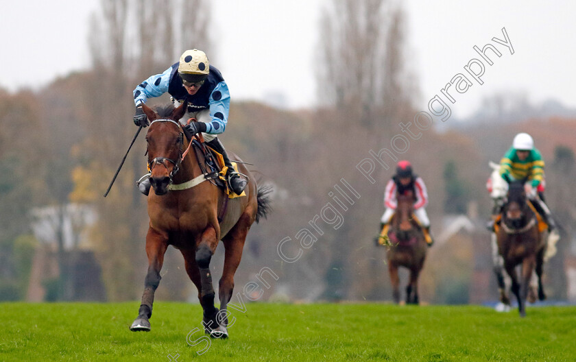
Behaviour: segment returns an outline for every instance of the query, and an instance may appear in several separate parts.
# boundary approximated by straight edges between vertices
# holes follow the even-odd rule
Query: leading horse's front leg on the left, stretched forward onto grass
[[[138,311],[138,317],[130,326],[130,330],[150,330],[149,318],[152,317],[152,304],[154,304],[154,292],[160,284],[160,270],[164,263],[164,254],[168,248],[168,235],[148,228],[146,235],[146,254],[148,256],[148,272],[144,279],[144,293]]]

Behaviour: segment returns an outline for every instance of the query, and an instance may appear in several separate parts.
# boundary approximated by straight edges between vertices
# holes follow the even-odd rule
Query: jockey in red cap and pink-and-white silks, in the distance
[[[379,237],[379,243],[388,234],[389,222],[394,215],[394,210],[396,210],[397,200],[396,193],[406,193],[407,191],[412,191],[413,195],[416,196],[416,202],[414,202],[414,214],[418,219],[418,224],[422,227],[424,232],[424,237],[426,238],[426,243],[428,246],[432,246],[434,243],[430,234],[430,220],[426,213],[424,207],[428,204],[428,192],[426,191],[426,185],[422,178],[414,175],[412,173],[412,165],[406,160],[398,162],[396,165],[396,175],[392,176],[392,179],[386,184],[386,189],[384,191],[384,206],[386,210],[382,219],[380,220],[381,233]]]

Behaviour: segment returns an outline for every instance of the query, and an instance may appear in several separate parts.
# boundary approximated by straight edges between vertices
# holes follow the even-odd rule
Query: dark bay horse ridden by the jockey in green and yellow
[[[504,269],[512,280],[512,292],[518,300],[520,317],[526,316],[526,299],[532,273],[538,278],[538,299],[546,299],[542,286],[546,232],[538,228],[538,218],[530,208],[524,189],[525,180],[509,184],[500,226],[496,230],[499,254],[503,257]],[[515,267],[521,264],[520,280]]]

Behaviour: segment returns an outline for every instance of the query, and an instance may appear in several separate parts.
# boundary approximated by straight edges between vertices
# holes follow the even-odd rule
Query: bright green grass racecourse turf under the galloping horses
[[[0,361],[576,361],[572,306],[246,304],[201,355],[200,306],[156,302],[152,331],[132,333],[138,306],[0,304]]]

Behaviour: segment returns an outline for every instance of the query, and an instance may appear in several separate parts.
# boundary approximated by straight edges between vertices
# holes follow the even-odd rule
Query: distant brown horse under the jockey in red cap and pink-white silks
[[[418,276],[426,259],[427,244],[422,229],[413,218],[415,197],[411,191],[404,195],[396,194],[398,206],[390,220],[388,238],[392,244],[387,251],[388,272],[392,282],[392,296],[395,303],[400,302],[400,278],[398,267],[410,271],[410,280],[406,287],[406,304],[419,304]]]

